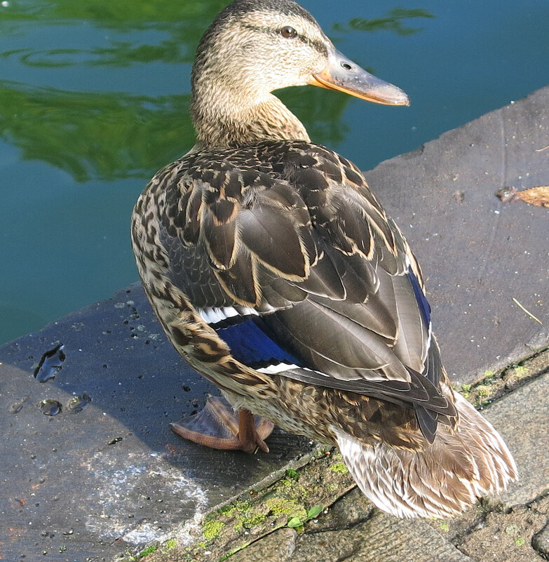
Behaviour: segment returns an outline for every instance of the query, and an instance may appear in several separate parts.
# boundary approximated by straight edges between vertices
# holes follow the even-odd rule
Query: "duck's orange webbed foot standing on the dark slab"
[[[224,399],[211,396],[196,415],[170,424],[172,431],[189,441],[246,453],[255,453],[257,448],[269,453],[264,439],[271,435],[273,427],[273,422],[253,415],[250,410],[234,412]]]

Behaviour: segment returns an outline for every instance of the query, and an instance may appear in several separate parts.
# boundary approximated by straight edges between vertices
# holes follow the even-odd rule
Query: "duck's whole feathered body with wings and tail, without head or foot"
[[[454,394],[421,272],[358,168],[297,141],[191,152],[133,213],[168,337],[238,409],[337,443],[395,515],[452,516],[505,488],[505,443]]]

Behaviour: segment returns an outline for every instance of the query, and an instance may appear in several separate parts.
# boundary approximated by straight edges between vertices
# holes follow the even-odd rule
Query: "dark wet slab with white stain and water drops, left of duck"
[[[62,368],[37,382],[41,356],[60,343]],[[311,450],[280,430],[269,455],[172,434],[168,422],[209,393],[218,394],[172,349],[137,285],[2,347],[0,559],[109,560],[176,528],[184,544],[208,509]],[[74,408],[83,395],[91,401]],[[44,400],[60,413],[45,415]]]

